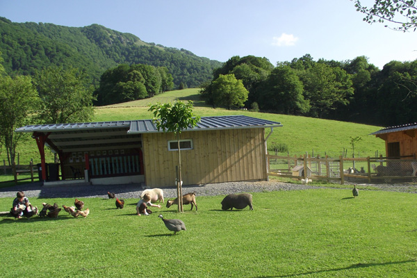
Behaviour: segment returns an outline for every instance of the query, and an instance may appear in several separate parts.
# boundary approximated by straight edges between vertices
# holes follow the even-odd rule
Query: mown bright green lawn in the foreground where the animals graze
[[[253,193],[254,211],[221,211],[224,196],[197,197],[136,216],[113,199],[83,199],[87,218],[1,217],[2,277],[416,277],[416,197],[311,189]],[[8,211],[13,198],[1,198]],[[74,199],[35,199],[72,205]],[[158,214],[180,218],[176,236]]]

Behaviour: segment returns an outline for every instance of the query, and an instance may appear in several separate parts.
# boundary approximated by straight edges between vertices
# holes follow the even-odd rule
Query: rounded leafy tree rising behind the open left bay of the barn
[[[58,124],[92,120],[93,88],[81,70],[51,66],[38,72],[34,83],[42,99],[39,122]]]

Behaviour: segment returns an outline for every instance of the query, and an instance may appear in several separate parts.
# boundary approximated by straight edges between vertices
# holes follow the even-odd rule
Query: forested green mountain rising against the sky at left
[[[101,74],[120,64],[167,67],[175,87],[197,87],[211,80],[222,63],[185,49],[147,43],[129,33],[98,24],[66,27],[49,23],[14,23],[0,17],[0,51],[8,74],[33,75],[49,65],[71,65],[98,83]],[[182,84],[181,84],[182,85]]]

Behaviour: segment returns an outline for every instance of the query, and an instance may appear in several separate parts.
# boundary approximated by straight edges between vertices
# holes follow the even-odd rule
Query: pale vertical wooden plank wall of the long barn
[[[181,151],[183,184],[266,179],[265,129],[185,131],[181,140],[193,139],[191,150]],[[145,183],[174,186],[178,152],[167,149],[172,133],[143,134]]]

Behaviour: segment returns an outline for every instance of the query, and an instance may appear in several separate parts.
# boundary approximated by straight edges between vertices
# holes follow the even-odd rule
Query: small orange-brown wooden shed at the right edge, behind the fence
[[[417,123],[391,126],[371,134],[385,141],[388,158],[416,159]]]

